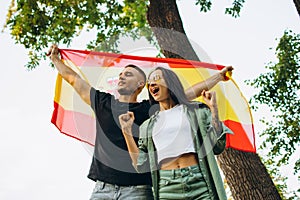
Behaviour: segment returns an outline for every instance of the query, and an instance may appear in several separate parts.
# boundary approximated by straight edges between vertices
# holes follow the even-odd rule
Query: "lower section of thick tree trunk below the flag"
[[[234,199],[281,199],[257,154],[229,148],[218,156],[218,161]]]

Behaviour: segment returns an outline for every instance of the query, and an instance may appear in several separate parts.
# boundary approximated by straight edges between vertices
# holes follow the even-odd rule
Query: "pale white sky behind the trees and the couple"
[[[9,2],[0,7],[1,29]],[[200,13],[193,2],[181,0],[178,7],[200,58],[232,65],[233,78],[249,99],[255,90],[244,81],[265,72],[269,61],[276,61],[276,38],[287,29],[300,33],[293,1],[246,1],[237,19],[224,15],[229,0],[213,1],[209,13]],[[70,48],[85,49],[87,38],[91,37],[79,36]],[[92,155],[85,145],[59,133],[50,122],[57,71],[49,67],[49,60],[35,70],[26,70],[27,50],[14,43],[8,29],[0,33],[0,47],[0,199],[88,199],[94,187],[86,177]],[[259,122],[263,115],[268,112],[253,113],[256,132],[264,128]],[[258,146],[261,139],[256,137]],[[290,189],[299,185],[292,170],[282,173],[290,177]]]

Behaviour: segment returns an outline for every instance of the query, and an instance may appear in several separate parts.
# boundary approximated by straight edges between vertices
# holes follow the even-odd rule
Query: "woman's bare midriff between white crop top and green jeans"
[[[198,164],[195,153],[182,154],[176,158],[166,158],[160,162],[161,170],[181,169]]]

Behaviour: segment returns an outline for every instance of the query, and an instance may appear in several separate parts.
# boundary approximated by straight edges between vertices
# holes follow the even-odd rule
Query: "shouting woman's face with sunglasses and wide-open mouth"
[[[169,91],[161,70],[155,70],[150,74],[147,87],[155,101],[162,102],[169,99]]]

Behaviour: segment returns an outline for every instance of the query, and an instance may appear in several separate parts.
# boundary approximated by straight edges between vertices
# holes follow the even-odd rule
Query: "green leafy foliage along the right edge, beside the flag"
[[[262,119],[266,137],[261,148],[268,150],[269,161],[275,167],[286,165],[300,147],[300,35],[285,31],[276,48],[278,63],[269,63],[269,72],[248,84],[258,88],[250,104],[264,104],[274,113],[273,119]],[[257,109],[257,106],[254,107]],[[297,157],[294,173],[300,172]],[[275,162],[276,161],[276,162]]]

